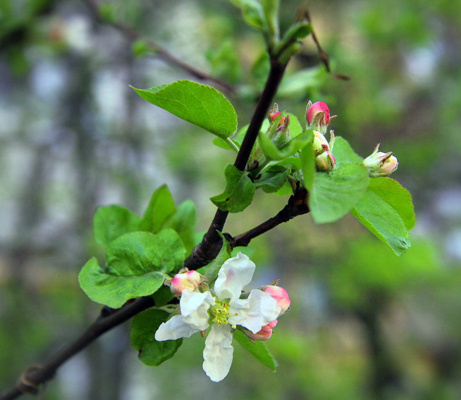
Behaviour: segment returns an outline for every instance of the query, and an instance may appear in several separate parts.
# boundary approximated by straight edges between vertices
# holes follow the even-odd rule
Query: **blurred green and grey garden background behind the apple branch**
[[[101,0],[104,20],[88,3],[0,1],[0,390],[98,315],[77,282],[91,255],[103,259],[91,234],[98,205],[141,214],[167,183],[177,204],[194,201],[201,232],[234,161],[211,134],[130,89],[197,79],[107,21],[229,82],[201,81],[230,99],[240,126],[268,71],[261,35],[227,1]],[[282,1],[282,31],[298,5]],[[307,5],[333,71],[351,80],[330,76],[308,37],[276,101],[302,120],[309,99],[324,100],[339,115],[330,127],[360,155],[378,142],[394,151],[392,177],[415,203],[413,247],[397,257],[351,215],[327,225],[297,217],[245,249],[254,286],[279,277],[292,298],[267,342],[276,373],[235,343],[228,377],[212,383],[194,336],[145,366],[127,322],[64,364],[44,398],[461,398],[461,3]],[[252,228],[287,199],[258,191],[225,230]]]

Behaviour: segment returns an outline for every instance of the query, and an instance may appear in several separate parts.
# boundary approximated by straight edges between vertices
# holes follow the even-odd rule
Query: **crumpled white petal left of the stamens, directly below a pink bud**
[[[205,330],[208,328],[208,308],[216,303],[209,290],[199,293],[184,290],[179,300],[182,320],[191,325],[191,328]]]

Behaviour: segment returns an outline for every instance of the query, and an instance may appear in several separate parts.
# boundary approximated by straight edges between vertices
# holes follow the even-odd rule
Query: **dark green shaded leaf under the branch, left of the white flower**
[[[182,338],[177,340],[155,340],[155,332],[170,314],[161,309],[146,309],[135,315],[131,323],[130,342],[137,350],[141,362],[150,366],[160,365],[170,359],[179,346]]]

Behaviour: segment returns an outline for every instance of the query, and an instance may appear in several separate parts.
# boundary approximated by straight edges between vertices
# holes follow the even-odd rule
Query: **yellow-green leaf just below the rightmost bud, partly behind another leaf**
[[[368,190],[378,194],[400,215],[408,230],[416,224],[412,195],[402,185],[390,177],[370,179]]]

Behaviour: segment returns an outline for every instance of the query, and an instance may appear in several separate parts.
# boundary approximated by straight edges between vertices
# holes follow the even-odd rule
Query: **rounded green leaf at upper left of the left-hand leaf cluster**
[[[120,205],[98,207],[93,216],[94,240],[104,247],[122,234],[138,230],[141,218]]]

